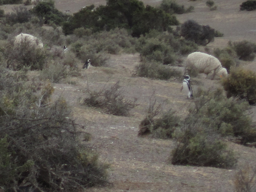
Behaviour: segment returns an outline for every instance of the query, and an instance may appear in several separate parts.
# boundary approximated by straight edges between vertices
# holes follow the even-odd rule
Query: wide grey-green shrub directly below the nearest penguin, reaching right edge
[[[241,137],[243,144],[248,142],[249,132],[254,128],[247,112],[247,102],[227,99],[220,89],[206,92],[199,89],[194,96],[195,106],[190,109],[188,122],[198,121],[221,136]]]

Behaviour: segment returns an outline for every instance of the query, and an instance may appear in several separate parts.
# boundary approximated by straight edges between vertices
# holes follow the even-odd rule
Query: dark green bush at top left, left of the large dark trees
[[[54,1],[52,0],[38,2],[32,9],[32,13],[43,19],[44,22],[56,25],[60,25],[68,19],[68,15],[63,14],[54,7]]]

